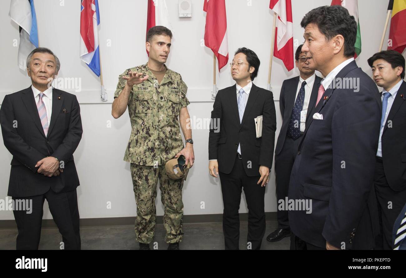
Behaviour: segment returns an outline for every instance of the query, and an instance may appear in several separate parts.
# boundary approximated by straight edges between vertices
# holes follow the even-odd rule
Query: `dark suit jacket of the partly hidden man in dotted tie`
[[[315,76],[313,88],[309,99],[309,108],[306,115],[306,126],[309,124],[311,116],[314,114],[317,93],[319,91],[320,82],[322,78]],[[284,80],[281,88],[281,95],[279,97],[279,108],[282,115],[282,127],[279,132],[278,140],[276,142],[275,155],[278,155],[285,143],[287,128],[289,127],[290,118],[292,118],[293,106],[296,101],[296,91],[298,90],[299,76]],[[310,116],[311,115],[311,116]]]

